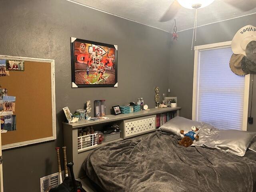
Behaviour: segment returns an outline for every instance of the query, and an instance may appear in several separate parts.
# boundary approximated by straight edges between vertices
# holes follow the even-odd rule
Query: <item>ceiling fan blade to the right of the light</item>
[[[256,8],[256,0],[222,0],[242,11],[250,11]]]

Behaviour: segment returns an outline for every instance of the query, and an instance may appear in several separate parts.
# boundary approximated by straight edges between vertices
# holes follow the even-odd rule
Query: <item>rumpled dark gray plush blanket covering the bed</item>
[[[156,131],[95,149],[83,164],[106,192],[256,191],[256,153],[244,157],[178,145],[180,137]]]

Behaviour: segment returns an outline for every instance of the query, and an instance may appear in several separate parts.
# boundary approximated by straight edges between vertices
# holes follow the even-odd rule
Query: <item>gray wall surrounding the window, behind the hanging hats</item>
[[[243,26],[248,24],[256,26],[255,18],[256,14],[199,27],[197,29],[195,45],[231,41],[234,34],[236,34],[236,32]],[[182,107],[180,116],[184,116],[186,118],[192,118],[194,71],[194,51],[190,50],[192,33],[193,30],[179,32],[178,41],[172,42],[171,44],[171,92],[172,95],[178,96],[178,105]],[[255,75],[254,80],[256,80]],[[252,116],[256,118],[256,86],[254,86],[253,93]],[[254,122],[255,121],[256,119],[254,119]],[[256,131],[255,123],[254,125],[248,125],[247,130]]]

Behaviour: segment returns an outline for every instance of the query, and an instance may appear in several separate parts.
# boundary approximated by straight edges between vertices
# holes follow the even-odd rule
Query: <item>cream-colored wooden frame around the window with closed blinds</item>
[[[198,85],[199,85],[199,69],[200,69],[200,51],[214,50],[220,48],[231,47],[231,41],[206,44],[194,47],[194,76],[193,76],[193,98],[192,98],[192,120],[198,120]],[[248,103],[249,103],[249,91],[250,91],[250,74],[244,77],[244,109],[243,109],[243,122],[242,130],[247,130],[248,119]]]

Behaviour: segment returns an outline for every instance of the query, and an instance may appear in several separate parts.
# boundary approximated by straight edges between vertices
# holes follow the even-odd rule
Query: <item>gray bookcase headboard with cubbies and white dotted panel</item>
[[[63,123],[63,132],[64,132],[64,145],[67,147],[67,161],[74,162],[74,175],[75,178],[80,178],[85,175],[84,170],[81,168],[82,163],[85,158],[90,154],[90,152],[98,147],[105,146],[110,142],[122,141],[126,138],[138,137],[144,134],[148,134],[150,132],[156,131],[159,125],[159,118],[157,116],[161,116],[162,123],[164,123],[164,119],[168,121],[170,118],[174,116],[179,116],[179,111],[181,107],[176,108],[152,108],[149,111],[140,111],[130,114],[120,114],[120,115],[107,115],[106,117],[110,119],[106,120],[98,120],[98,121],[88,121],[83,120],[76,123],[68,124]],[[168,115],[170,118],[167,118]],[[169,116],[168,116],[169,117]],[[107,125],[118,124],[121,134],[120,138],[110,141],[103,142],[102,144],[92,144],[87,147],[87,141],[82,141],[81,144],[81,136],[78,136],[78,132],[90,126],[93,126],[94,130],[104,130]],[[86,137],[84,137],[86,138]],[[94,139],[90,138],[89,143],[94,142]],[[84,144],[85,143],[85,144]],[[86,148],[83,148],[86,146]]]

